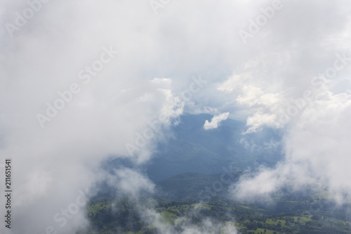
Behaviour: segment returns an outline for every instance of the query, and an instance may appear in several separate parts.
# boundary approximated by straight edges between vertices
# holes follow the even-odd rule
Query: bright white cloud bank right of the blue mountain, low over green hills
[[[328,93],[328,92],[326,92]],[[345,202],[351,192],[348,165],[351,96],[321,93],[289,126],[284,137],[284,162],[275,169],[261,169],[244,176],[234,188],[235,197],[254,200],[270,197],[282,186],[299,190],[304,186],[328,188],[337,202]]]

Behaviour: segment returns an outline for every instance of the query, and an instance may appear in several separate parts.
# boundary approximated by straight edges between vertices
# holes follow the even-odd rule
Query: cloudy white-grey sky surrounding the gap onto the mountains
[[[100,163],[147,163],[185,112],[216,115],[208,131],[229,117],[244,134],[284,133],[284,160],[243,176],[233,197],[318,181],[344,202],[350,11],[341,0],[1,1],[0,173],[11,158],[15,210],[1,233],[74,233],[106,179],[152,192],[140,171],[110,178]]]

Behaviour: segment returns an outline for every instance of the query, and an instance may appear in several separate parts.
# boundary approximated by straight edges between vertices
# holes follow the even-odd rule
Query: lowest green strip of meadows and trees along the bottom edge
[[[211,233],[227,234],[225,230],[236,228],[242,234],[347,234],[351,232],[350,217],[345,216],[345,210],[350,206],[331,209],[331,204],[322,201],[286,201],[285,206],[295,207],[293,212],[275,214],[272,209],[257,207],[255,204],[235,203],[199,204],[192,201],[167,202],[158,200],[156,207],[150,207],[147,202],[129,201],[110,198],[94,200],[88,205],[88,217],[91,226],[77,234],[161,234],[184,233],[188,227]],[[311,206],[319,206],[318,212],[313,212]],[[153,218],[145,219],[145,214]],[[155,220],[155,214],[160,220]],[[340,215],[343,214],[343,215]],[[215,226],[210,226],[208,220]],[[208,228],[213,228],[208,230]]]

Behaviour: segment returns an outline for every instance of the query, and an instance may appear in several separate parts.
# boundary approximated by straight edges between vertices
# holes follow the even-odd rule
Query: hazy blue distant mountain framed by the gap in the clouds
[[[263,129],[243,134],[247,127],[233,119],[221,122],[217,129],[205,130],[205,121],[212,117],[208,114],[180,117],[179,124],[171,129],[174,137],[158,145],[147,165],[147,175],[159,181],[185,172],[220,174],[223,167],[237,171],[258,164],[272,167],[282,158],[278,131]]]

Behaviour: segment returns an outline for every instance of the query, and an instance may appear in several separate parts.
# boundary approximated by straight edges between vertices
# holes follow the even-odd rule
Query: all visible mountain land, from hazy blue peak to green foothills
[[[100,191],[87,207],[90,225],[78,234],[204,232],[209,220],[215,225],[208,233],[227,233],[228,227],[243,234],[351,233],[351,204],[336,206],[322,190],[283,187],[270,202],[230,197],[228,188],[242,171],[259,164],[274,167],[282,159],[281,135],[269,128],[244,134],[247,126],[234,119],[205,130],[204,122],[212,117],[180,117],[171,127],[173,138],[157,145],[150,164],[137,168],[154,181],[155,193],[135,198],[117,193],[108,183],[98,185]],[[120,158],[103,167],[112,174],[118,167],[135,168]]]

